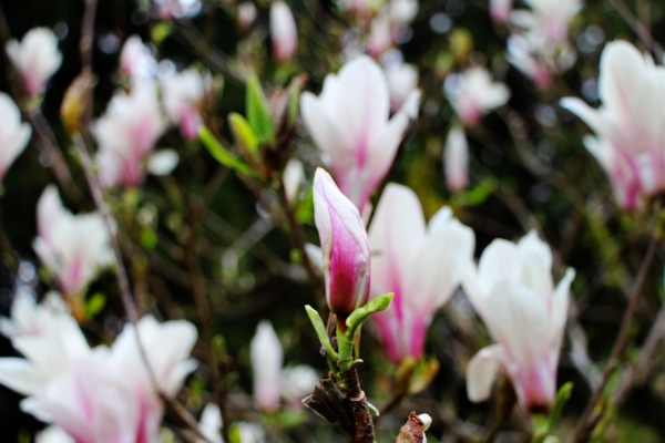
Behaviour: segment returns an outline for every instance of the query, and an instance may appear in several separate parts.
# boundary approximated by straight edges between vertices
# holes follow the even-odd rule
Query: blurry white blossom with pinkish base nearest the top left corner
[[[62,53],[58,51],[58,37],[49,28],[33,28],[19,42],[7,42],[7,55],[21,74],[28,95],[42,94],[47,82],[60,69]]]

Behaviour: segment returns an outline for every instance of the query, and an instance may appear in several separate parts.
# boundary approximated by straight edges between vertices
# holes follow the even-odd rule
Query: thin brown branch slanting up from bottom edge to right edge
[[[617,367],[617,364],[621,362],[623,352],[626,349],[626,346],[628,344],[628,331],[631,322],[633,321],[633,317],[635,316],[635,311],[640,302],[640,297],[642,295],[642,288],[644,287],[648,269],[651,268],[651,265],[654,260],[659,243],[661,236],[659,233],[656,233],[651,240],[646,255],[642,259],[642,265],[640,266],[637,278],[635,279],[633,291],[631,292],[628,299],[628,306],[624,313],[621,323],[621,329],[618,331],[618,336],[616,337],[616,341],[614,342],[612,353],[610,354],[610,359],[607,360],[607,364],[605,365],[603,378],[598,385],[595,388],[591,399],[589,400],[589,403],[586,403],[586,408],[584,408],[584,412],[577,421],[577,424],[571,432],[569,441],[572,443],[586,442],[589,440],[590,432],[593,430],[594,423],[593,420],[591,420],[591,415],[595,409],[595,405],[603,396],[603,391],[607,385],[607,382],[610,381],[610,377],[612,375],[612,372]]]

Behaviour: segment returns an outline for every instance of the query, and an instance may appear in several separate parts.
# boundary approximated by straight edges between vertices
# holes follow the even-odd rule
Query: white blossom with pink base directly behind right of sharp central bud
[[[388,358],[420,360],[427,328],[461,281],[473,259],[473,230],[441,208],[426,226],[416,194],[388,184],[369,230],[371,297],[393,292],[390,307],[372,315]]]

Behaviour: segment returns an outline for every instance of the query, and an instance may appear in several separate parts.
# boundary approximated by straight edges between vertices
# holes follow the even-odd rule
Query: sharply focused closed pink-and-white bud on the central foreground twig
[[[321,241],[328,307],[345,320],[369,299],[369,240],[358,208],[321,168],[314,176],[314,219]]]

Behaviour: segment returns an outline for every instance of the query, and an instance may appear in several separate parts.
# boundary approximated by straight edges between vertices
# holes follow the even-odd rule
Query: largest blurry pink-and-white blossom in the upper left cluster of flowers
[[[132,92],[119,92],[93,126],[100,151],[95,157],[103,186],[137,186],[144,164],[166,128],[155,85],[134,82]]]

